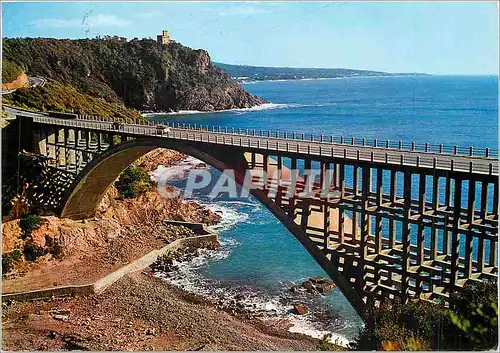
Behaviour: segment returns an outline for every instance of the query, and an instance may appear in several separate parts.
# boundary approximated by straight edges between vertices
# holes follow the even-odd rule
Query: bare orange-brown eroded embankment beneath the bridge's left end
[[[158,163],[168,166],[180,158],[179,153],[157,150],[138,164],[154,169]],[[21,251],[24,256],[11,264],[14,269],[3,278],[3,292],[93,282],[153,249],[187,236],[183,229],[165,226],[165,219],[211,224],[219,216],[194,202],[163,198],[156,189],[135,199],[121,200],[112,186],[95,218],[74,221],[44,217],[29,237],[20,220],[6,222],[2,228],[2,253]],[[57,251],[53,251],[54,244]],[[29,261],[27,249],[48,253]]]

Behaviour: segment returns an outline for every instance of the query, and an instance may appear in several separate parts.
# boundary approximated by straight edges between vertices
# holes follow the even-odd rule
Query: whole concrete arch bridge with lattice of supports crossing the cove
[[[99,118],[15,114],[20,148],[66,173],[50,201],[63,217],[92,217],[128,165],[165,147],[234,169],[239,183],[251,171],[251,194],[362,316],[368,300],[446,302],[470,281],[497,278],[497,151],[180,124],[117,130]],[[319,180],[294,180],[286,171],[297,166],[319,169]],[[292,182],[297,192],[285,192]],[[330,193],[300,196],[308,185]]]

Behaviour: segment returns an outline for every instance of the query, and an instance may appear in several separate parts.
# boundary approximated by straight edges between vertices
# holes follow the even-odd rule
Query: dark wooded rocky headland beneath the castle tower
[[[265,103],[215,67],[205,50],[176,42],[5,38],[3,55],[32,76],[139,110],[210,111]]]

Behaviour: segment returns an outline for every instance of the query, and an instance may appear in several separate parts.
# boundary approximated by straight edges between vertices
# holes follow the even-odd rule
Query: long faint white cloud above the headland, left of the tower
[[[59,18],[41,18],[31,22],[36,27],[51,27],[51,28],[69,28],[80,27],[85,25],[92,27],[124,27],[131,24],[129,20],[119,18],[115,15],[97,14],[89,16],[82,23],[82,19],[59,19]]]

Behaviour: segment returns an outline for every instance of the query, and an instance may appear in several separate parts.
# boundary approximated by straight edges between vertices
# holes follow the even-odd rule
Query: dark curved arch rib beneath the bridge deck
[[[242,152],[228,151],[224,146],[214,146],[210,150],[202,151],[189,142],[155,137],[134,139],[113,146],[97,155],[85,166],[62,201],[61,217],[72,219],[94,217],[106,190],[123,170],[139,157],[156,148],[167,148],[190,155],[220,171],[234,169],[235,181],[239,185],[243,184],[248,162]],[[364,318],[366,306],[364,301],[352,284],[338,271],[334,262],[327,258],[326,254],[310,240],[305,231],[263,190],[252,189],[250,193],[292,233],[323,270],[329,274],[356,312]]]

